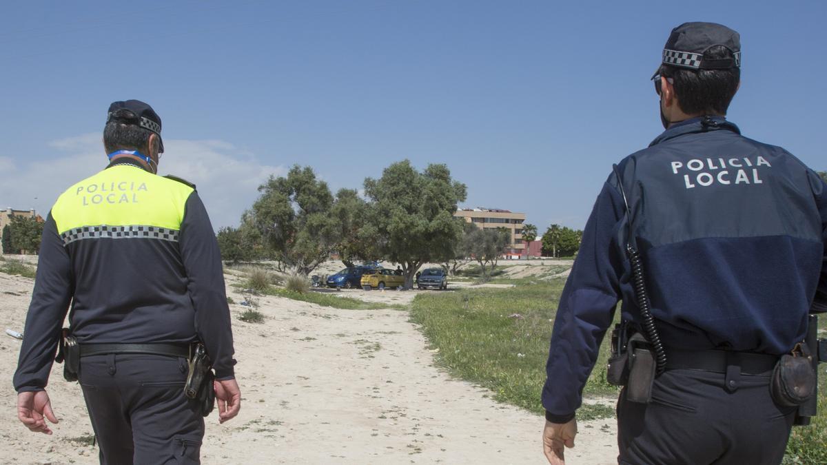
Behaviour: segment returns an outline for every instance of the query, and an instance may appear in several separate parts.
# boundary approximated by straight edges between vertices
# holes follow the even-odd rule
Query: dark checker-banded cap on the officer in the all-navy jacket
[[[705,56],[712,46],[724,46],[731,56],[713,59]],[[690,70],[729,70],[741,67],[741,36],[727,26],[714,22],[685,22],[672,29],[663,46],[664,65]],[[656,73],[657,74],[657,73]]]

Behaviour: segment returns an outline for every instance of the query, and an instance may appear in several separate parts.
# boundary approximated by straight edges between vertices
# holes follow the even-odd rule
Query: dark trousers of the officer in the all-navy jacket
[[[648,404],[629,402],[624,388],[617,406],[619,463],[781,463],[796,409],[772,401],[769,376],[742,373],[734,391],[724,378],[667,370],[655,379]]]

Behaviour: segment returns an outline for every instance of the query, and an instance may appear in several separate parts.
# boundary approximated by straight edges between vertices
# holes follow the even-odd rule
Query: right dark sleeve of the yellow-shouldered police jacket
[[[213,360],[219,380],[235,376],[232,327],[218,241],[197,192],[187,199],[179,237],[187,289],[195,308],[195,330]]]

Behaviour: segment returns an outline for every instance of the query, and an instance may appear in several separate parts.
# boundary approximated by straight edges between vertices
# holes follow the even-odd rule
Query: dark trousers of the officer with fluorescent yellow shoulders
[[[184,396],[186,376],[182,357],[81,358],[79,381],[102,464],[199,463],[204,421]]]

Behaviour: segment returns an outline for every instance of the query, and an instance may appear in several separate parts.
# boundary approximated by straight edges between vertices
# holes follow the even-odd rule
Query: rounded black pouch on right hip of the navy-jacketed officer
[[[815,394],[813,357],[803,343],[782,355],[772,371],[770,394],[777,405],[792,407],[804,404]]]

